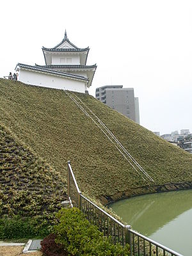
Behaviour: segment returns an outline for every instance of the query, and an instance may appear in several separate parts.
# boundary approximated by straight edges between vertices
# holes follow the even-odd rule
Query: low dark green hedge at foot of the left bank
[[[33,218],[13,218],[0,219],[0,239],[24,239],[41,238],[47,236],[52,231],[49,221],[42,216]]]

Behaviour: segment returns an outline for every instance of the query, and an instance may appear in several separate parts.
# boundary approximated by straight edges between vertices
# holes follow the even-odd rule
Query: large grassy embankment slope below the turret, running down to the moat
[[[155,182],[143,180],[99,128],[62,90],[0,79],[0,120],[61,175],[67,160],[79,188],[97,198],[120,198],[156,186],[192,182],[192,156],[113,111],[76,93]],[[182,185],[179,185],[182,187]]]

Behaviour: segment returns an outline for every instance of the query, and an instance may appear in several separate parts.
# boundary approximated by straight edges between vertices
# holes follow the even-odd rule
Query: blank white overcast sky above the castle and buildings
[[[192,132],[192,1],[1,1],[0,77],[18,62],[44,65],[42,46],[64,37],[90,46],[97,63],[90,94],[133,87],[141,125],[161,134]]]

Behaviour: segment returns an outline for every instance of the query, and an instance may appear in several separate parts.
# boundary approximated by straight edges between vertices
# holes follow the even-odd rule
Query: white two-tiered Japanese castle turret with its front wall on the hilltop
[[[73,92],[87,92],[92,85],[97,65],[86,65],[89,47],[78,48],[65,36],[53,48],[42,47],[45,65],[18,63],[18,80],[22,83]]]

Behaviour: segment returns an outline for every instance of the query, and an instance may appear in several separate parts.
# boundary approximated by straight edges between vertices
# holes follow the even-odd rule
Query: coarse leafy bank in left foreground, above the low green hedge
[[[66,180],[0,124],[0,216],[47,216],[61,208]]]

